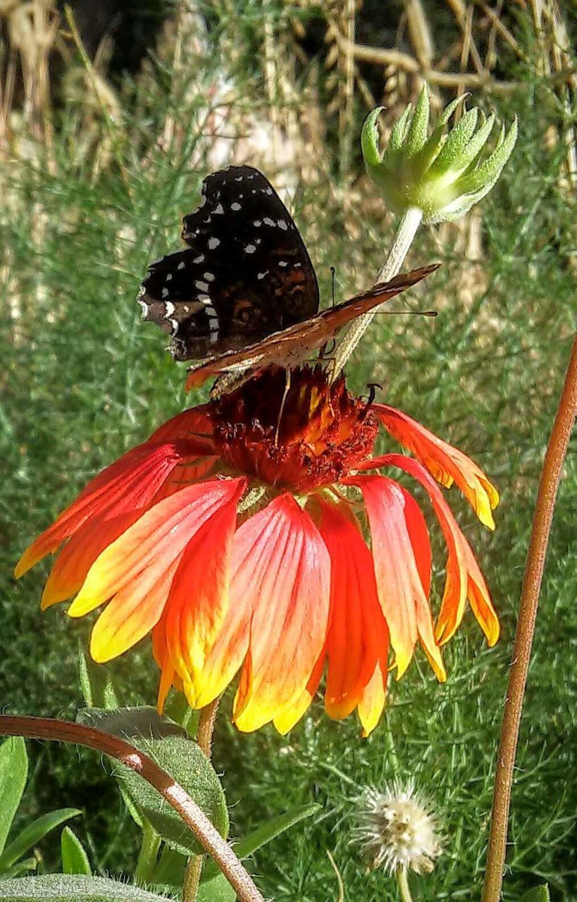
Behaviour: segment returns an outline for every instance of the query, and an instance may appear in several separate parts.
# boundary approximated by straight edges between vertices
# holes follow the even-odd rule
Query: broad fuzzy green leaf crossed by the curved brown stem
[[[223,788],[215,769],[204,752],[198,748],[197,743],[181,736],[167,736],[151,741],[134,740],[134,743],[186,789],[218,832],[226,837],[228,812]],[[184,855],[198,854],[202,851],[194,833],[150,783],[124,765],[114,769],[114,776],[120,781],[142,817],[150,821],[156,833],[159,833],[171,848]]]

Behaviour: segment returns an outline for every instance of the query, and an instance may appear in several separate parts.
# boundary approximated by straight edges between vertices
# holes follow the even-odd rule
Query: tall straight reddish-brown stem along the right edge
[[[551,437],[545,452],[533,528],[527,551],[527,564],[523,577],[517,634],[513,646],[513,658],[508,678],[507,698],[503,712],[497,771],[493,790],[487,865],[482,902],[499,902],[503,883],[503,868],[507,847],[508,812],[523,697],[527,685],[527,671],[531,658],[533,634],[539,592],[543,581],[545,555],[553,520],[557,489],[561,479],[563,461],[567,453],[572,425],[577,412],[577,336],[572,345],[572,355],[559,406],[555,415]]]

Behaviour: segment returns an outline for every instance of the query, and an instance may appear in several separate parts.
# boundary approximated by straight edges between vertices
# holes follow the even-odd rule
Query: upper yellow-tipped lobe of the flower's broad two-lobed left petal
[[[96,558],[69,614],[81,617],[138,580],[151,588],[237,483],[213,480],[189,485],[146,511]]]

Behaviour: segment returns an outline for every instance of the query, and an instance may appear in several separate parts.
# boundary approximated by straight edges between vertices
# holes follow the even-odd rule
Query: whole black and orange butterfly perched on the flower
[[[195,360],[187,387],[209,376],[229,382],[270,364],[307,360],[356,317],[424,279],[437,264],[397,276],[318,312],[307,248],[268,179],[231,166],[203,182],[201,202],[184,217],[188,248],[151,263],[142,281],[142,317],[170,334],[179,361]],[[226,377],[221,377],[226,390]]]

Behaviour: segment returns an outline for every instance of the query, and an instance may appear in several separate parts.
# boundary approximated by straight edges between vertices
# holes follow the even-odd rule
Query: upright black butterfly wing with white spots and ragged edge
[[[237,350],[316,314],[307,249],[258,170],[208,176],[182,237],[189,249],[152,263],[139,296],[143,318],[170,333],[177,360]]]

